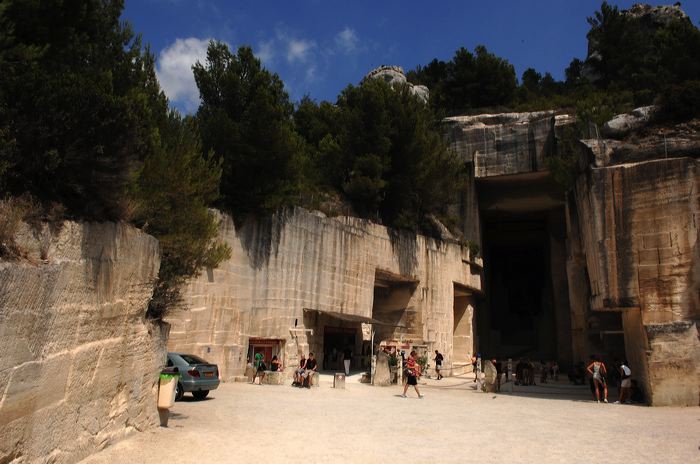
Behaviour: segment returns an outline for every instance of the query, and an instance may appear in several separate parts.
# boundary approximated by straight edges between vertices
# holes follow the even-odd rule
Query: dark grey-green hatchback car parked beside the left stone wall
[[[177,367],[180,371],[175,400],[181,400],[185,392],[192,392],[195,399],[203,400],[209,391],[219,387],[219,366],[193,354],[168,353],[168,367]]]

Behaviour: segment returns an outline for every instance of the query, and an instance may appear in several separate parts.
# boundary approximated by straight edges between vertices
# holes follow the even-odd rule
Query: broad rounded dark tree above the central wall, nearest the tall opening
[[[447,150],[435,113],[408,86],[369,79],[343,90],[334,110],[303,102],[299,111],[304,115],[295,119],[305,120],[298,127],[318,150],[321,171],[357,213],[423,232],[432,232],[429,215],[447,216],[461,164]]]

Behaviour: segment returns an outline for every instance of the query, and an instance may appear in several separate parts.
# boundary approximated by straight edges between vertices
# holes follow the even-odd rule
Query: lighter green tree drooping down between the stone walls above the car
[[[171,112],[162,127],[162,143],[145,160],[132,194],[134,221],[158,238],[161,266],[149,316],[160,318],[179,302],[180,286],[205,266],[216,267],[230,255],[218,242],[218,221],[208,209],[219,195],[221,159],[202,156],[192,118]]]

